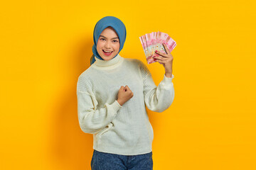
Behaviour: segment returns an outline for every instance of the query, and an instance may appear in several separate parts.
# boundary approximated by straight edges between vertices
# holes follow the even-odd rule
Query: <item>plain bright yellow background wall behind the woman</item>
[[[104,16],[127,28],[122,57],[146,64],[139,36],[168,33],[174,103],[148,111],[154,170],[256,169],[255,1],[4,1],[0,6],[0,169],[90,169],[76,83]],[[156,83],[164,67],[147,64]]]

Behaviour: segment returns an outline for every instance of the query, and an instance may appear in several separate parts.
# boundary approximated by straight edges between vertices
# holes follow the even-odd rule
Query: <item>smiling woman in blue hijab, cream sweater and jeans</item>
[[[124,58],[126,28],[114,16],[95,25],[91,66],[78,78],[78,119],[85,133],[93,134],[92,169],[153,169],[153,128],[146,108],[165,111],[174,101],[173,57],[158,52],[156,60],[166,73],[159,86],[137,59]]]

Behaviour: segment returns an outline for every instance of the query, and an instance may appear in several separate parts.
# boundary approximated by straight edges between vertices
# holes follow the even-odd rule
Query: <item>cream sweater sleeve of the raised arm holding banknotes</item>
[[[143,77],[143,94],[146,107],[151,111],[163,112],[171,106],[174,101],[174,74],[171,77],[166,77],[159,83],[158,86],[154,83],[149,69],[144,63],[141,67]]]

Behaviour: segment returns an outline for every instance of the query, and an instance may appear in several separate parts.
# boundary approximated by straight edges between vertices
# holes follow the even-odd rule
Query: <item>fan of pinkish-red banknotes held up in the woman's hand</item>
[[[167,54],[163,43],[166,44],[169,52],[176,47],[176,42],[168,34],[161,33],[160,31],[142,35],[139,37],[139,40],[142,42],[142,47],[146,55],[146,62],[148,64],[156,62],[153,57],[158,57],[159,55],[155,53],[155,50]]]

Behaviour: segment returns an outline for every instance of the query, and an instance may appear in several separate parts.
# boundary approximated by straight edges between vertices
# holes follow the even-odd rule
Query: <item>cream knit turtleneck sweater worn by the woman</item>
[[[166,77],[156,86],[149,69],[137,59],[121,57],[99,60],[80,76],[77,83],[78,120],[85,133],[93,134],[93,149],[122,155],[152,151],[153,128],[146,107],[163,112],[174,101],[174,84]],[[121,86],[134,96],[122,106],[117,102]],[[145,106],[146,104],[146,106]]]

